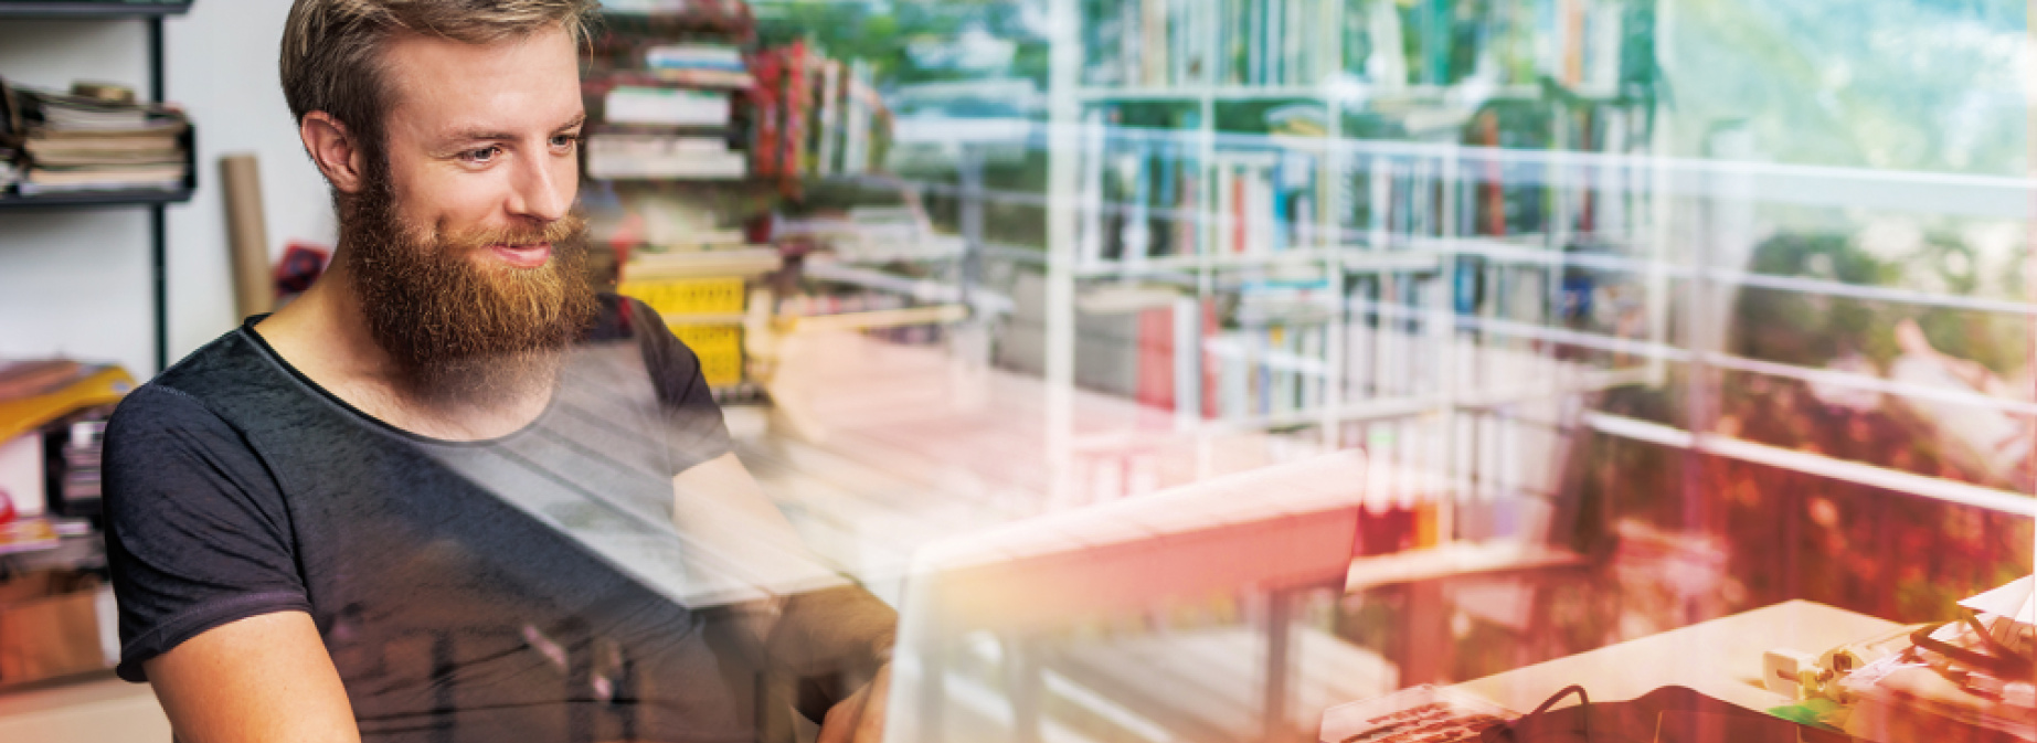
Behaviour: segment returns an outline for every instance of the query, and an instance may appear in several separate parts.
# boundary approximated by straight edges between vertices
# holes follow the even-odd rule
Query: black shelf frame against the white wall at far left
[[[141,20],[149,35],[149,102],[163,102],[163,18],[191,10],[191,2],[116,2],[116,0],[0,0],[0,22],[37,18],[79,18],[79,20]],[[198,189],[198,147],[196,128],[185,132],[185,157],[194,159],[185,169],[185,183],[171,191],[102,191],[102,193],[51,193],[33,197],[0,197],[0,214],[20,210],[149,210],[149,291],[151,320],[155,326],[155,368],[169,366],[169,234],[167,206],[191,199]]]

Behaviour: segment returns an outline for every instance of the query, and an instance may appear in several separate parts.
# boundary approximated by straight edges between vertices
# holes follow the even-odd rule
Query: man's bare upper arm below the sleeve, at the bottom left
[[[301,611],[212,627],[143,668],[177,743],[361,741],[340,672]]]

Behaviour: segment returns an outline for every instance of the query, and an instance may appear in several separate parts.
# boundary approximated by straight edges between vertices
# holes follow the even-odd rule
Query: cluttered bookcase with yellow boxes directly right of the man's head
[[[770,362],[756,360],[803,316],[864,313],[831,322],[856,328],[941,322],[941,311],[904,307],[917,303],[900,299],[915,295],[913,281],[864,269],[959,254],[951,240],[921,240],[913,214],[854,208],[845,193],[876,159],[882,104],[864,61],[760,33],[739,0],[611,2],[583,94],[593,116],[585,204],[597,242],[617,252],[617,291],[650,301],[701,352],[723,403],[764,397]],[[929,244],[931,254],[915,252]],[[813,283],[858,295],[803,295]]]

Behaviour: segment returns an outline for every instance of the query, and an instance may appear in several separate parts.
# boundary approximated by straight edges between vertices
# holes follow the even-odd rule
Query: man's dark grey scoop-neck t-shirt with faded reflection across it
[[[352,409],[253,320],[128,395],[106,434],[120,676],[306,611],[369,741],[754,739],[760,651],[674,598],[682,552],[609,550],[672,541],[670,478],[729,450],[721,413],[648,307],[603,307],[538,421],[489,442]]]

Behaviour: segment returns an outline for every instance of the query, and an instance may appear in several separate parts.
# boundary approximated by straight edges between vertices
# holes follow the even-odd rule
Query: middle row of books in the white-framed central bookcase
[[[1585,110],[1593,124],[1573,136],[1628,151],[1636,116],[1619,106]],[[1251,151],[1218,149],[1202,159],[1188,136],[1118,126],[1118,108],[1096,108],[1084,124],[1076,183],[1082,263],[1359,244],[1389,250],[1406,246],[1410,236],[1516,236],[1552,226],[1593,240],[1619,240],[1636,226],[1636,199],[1644,197],[1623,169],[1566,173],[1579,187],[1577,197],[1550,202],[1546,173],[1536,167],[1465,161],[1450,175],[1432,159],[1344,155],[1332,161],[1283,136],[1269,136],[1265,147]],[[1194,124],[1196,114],[1183,114],[1177,126]],[[1495,138],[1471,134],[1475,145]]]

